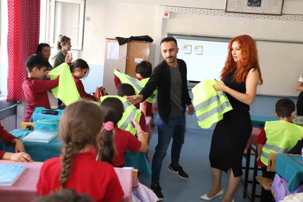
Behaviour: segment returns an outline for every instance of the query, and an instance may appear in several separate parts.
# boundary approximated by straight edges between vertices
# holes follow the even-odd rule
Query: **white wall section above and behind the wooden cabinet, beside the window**
[[[83,51],[78,58],[89,64],[104,65],[105,38],[149,35],[156,40],[158,6],[100,0],[86,1]],[[155,42],[149,61],[154,62]]]

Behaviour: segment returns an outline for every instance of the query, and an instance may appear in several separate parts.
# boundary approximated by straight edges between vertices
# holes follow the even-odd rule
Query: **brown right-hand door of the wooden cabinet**
[[[149,42],[131,41],[127,43],[125,74],[136,77],[136,65],[142,61],[148,61]]]

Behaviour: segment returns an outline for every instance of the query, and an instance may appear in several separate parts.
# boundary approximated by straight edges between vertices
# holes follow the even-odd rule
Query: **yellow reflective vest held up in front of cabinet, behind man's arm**
[[[128,83],[132,85],[132,87],[134,87],[135,89],[136,95],[138,95],[141,92],[141,90],[144,88],[145,84],[148,82],[149,79],[146,78],[139,81],[138,79],[135,79],[121,72],[118,72],[117,70],[114,71],[114,74],[120,79],[122,83]],[[149,103],[156,102],[156,95],[157,95],[157,90],[155,90],[153,94],[148,99],[146,99],[146,101]]]

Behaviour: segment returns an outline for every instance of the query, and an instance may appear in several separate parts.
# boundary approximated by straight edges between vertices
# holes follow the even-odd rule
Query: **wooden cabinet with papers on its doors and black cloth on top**
[[[115,95],[114,69],[120,69],[120,72],[136,78],[136,65],[140,60],[148,61],[150,43],[130,41],[119,46],[119,59],[107,59],[109,42],[118,43],[118,40],[106,39],[105,42],[103,87],[109,95]]]

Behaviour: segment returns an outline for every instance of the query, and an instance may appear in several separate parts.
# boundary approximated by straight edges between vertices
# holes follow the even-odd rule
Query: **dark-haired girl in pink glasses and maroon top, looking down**
[[[82,78],[86,78],[88,75],[89,66],[87,62],[85,62],[82,59],[77,59],[71,64],[70,68],[78,89],[78,93],[80,94],[80,97],[88,98],[89,100],[98,102],[98,98],[95,98],[91,94],[85,92],[82,81],[80,80]]]

